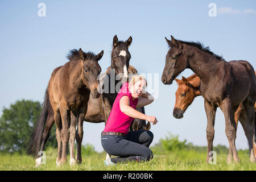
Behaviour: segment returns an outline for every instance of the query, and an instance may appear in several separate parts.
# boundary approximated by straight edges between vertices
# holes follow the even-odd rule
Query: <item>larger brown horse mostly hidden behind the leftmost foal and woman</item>
[[[76,49],[71,50],[67,56],[67,59],[70,61],[79,59],[75,52]],[[137,69],[135,69],[132,65],[129,65],[128,72],[130,74],[138,73]],[[145,113],[144,107],[140,107],[137,110]],[[40,166],[40,164],[42,163],[42,151],[44,151],[44,146],[49,138],[49,132],[51,131],[51,128],[54,124],[53,115],[53,109],[49,102],[49,94],[46,90],[42,112],[40,114],[38,122],[34,127],[34,130],[32,131],[30,142],[28,143],[28,154],[37,155],[36,167]],[[91,123],[105,122],[102,94],[98,98],[93,98],[92,93],[90,93],[88,109],[86,111],[84,121]],[[150,130],[150,122],[146,123],[146,121],[143,119],[134,119],[134,121],[131,123],[130,130]]]

